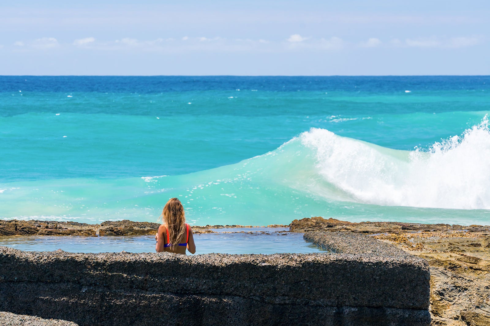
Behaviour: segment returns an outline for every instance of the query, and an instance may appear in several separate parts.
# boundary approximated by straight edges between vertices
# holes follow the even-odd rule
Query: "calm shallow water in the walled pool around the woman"
[[[325,252],[303,240],[303,233],[281,232],[276,228],[213,229],[217,233],[194,234],[196,255],[275,254]],[[3,236],[0,246],[25,251],[55,251],[72,253],[152,253],[153,235],[137,236]]]

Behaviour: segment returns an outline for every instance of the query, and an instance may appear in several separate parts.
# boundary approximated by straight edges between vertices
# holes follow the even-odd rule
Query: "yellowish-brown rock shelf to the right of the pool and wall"
[[[292,231],[375,234],[430,266],[431,325],[490,325],[490,227],[397,222],[351,223],[313,217],[294,220]],[[319,235],[317,235],[318,237]]]

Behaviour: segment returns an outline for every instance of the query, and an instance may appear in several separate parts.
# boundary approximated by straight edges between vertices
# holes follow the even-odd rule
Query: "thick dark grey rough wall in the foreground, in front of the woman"
[[[352,246],[363,237],[342,236],[326,235]],[[0,247],[0,310],[80,326],[429,325],[427,263],[388,252],[181,256]]]

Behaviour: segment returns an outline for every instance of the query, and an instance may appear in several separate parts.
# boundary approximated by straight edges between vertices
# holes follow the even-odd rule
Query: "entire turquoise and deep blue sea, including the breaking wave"
[[[489,76],[0,77],[0,218],[489,224]]]

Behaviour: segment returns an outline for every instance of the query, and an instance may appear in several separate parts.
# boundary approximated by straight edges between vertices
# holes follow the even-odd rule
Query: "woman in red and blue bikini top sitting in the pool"
[[[196,244],[192,236],[192,228],[185,222],[184,207],[177,198],[171,198],[163,208],[163,224],[155,235],[157,253],[168,251],[175,254],[196,253]]]

